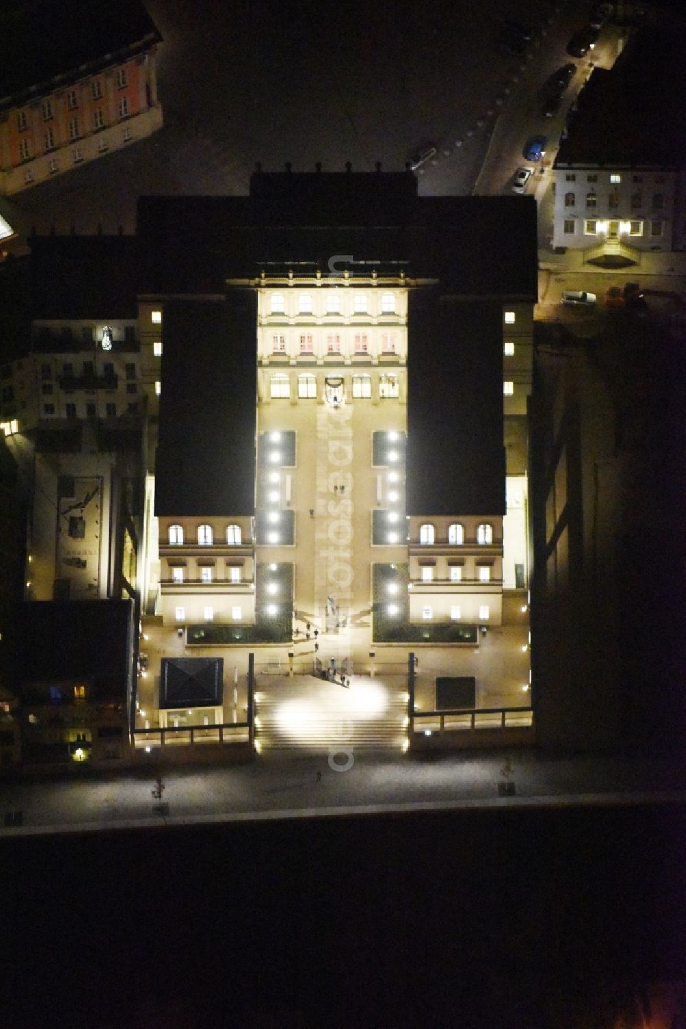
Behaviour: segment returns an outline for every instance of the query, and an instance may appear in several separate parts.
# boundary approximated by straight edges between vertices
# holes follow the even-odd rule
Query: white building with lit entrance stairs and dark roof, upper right
[[[641,30],[583,87],[554,163],[554,247],[630,264],[686,246],[681,38]]]

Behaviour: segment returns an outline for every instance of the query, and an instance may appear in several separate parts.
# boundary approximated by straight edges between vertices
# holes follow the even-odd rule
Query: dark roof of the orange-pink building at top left
[[[0,104],[56,76],[73,80],[85,73],[83,66],[114,64],[127,50],[141,48],[137,44],[161,39],[140,0],[5,0],[0,36]]]

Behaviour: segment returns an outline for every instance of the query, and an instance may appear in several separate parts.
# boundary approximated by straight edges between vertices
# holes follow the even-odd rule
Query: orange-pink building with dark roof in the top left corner
[[[14,193],[161,128],[155,50],[138,0],[17,4],[0,68],[0,193]],[[64,40],[65,42],[56,42]]]

